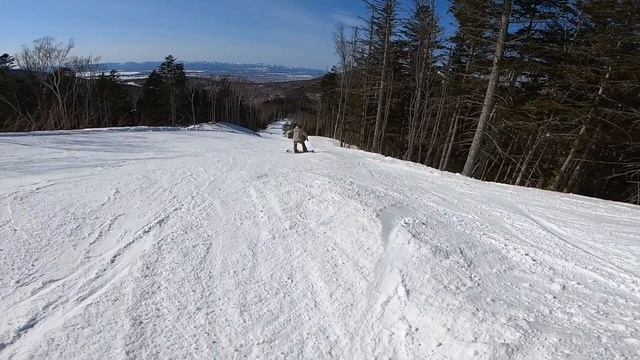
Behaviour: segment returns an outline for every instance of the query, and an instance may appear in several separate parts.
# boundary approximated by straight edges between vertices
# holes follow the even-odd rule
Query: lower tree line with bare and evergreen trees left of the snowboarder
[[[99,59],[74,44],[35,40],[16,56],[0,56],[0,131],[116,126],[179,126],[226,121],[256,129],[250,92],[228,80],[187,77],[171,55],[142,86],[103,72]]]

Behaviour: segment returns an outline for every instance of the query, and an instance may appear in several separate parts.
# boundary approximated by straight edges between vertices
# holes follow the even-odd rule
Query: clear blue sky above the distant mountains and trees
[[[436,2],[446,25],[448,0]],[[0,53],[54,36],[105,62],[173,54],[318,69],[336,62],[335,25],[365,14],[360,0],[0,0],[0,9]]]

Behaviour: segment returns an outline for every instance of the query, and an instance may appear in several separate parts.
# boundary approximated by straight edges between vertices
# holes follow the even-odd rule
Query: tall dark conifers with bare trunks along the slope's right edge
[[[478,179],[640,204],[640,2],[366,0],[307,129]],[[406,11],[406,9],[410,9]]]

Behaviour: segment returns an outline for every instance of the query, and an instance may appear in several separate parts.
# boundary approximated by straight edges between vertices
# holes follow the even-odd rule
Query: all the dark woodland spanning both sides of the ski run
[[[315,86],[264,96],[194,79],[168,56],[142,86],[102,73],[73,44],[0,57],[0,130],[289,116],[307,131],[501,183],[640,204],[640,2],[366,0],[338,25],[339,63]]]

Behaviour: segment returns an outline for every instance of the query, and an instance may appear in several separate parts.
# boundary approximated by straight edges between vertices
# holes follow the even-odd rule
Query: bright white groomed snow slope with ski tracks
[[[0,136],[0,359],[640,357],[638,207],[127,130]]]

